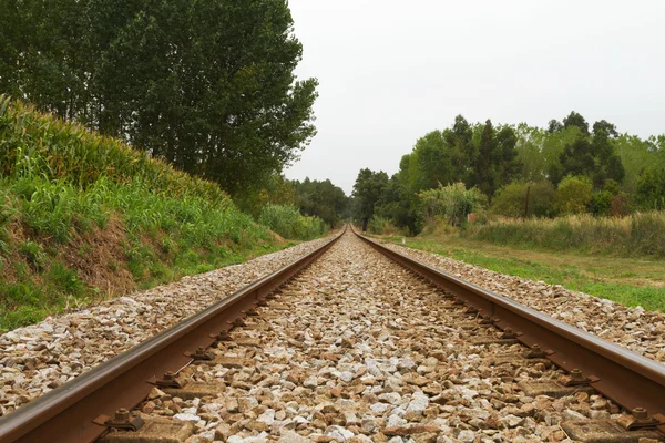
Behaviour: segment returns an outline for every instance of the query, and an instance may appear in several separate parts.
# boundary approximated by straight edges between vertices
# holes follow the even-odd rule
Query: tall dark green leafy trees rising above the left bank
[[[236,194],[294,162],[316,132],[317,81],[295,78],[293,27],[283,0],[8,0],[0,93]]]

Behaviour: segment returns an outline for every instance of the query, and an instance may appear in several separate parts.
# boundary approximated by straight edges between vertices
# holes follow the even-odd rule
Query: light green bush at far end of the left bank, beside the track
[[[258,222],[268,226],[284,238],[309,240],[328,230],[326,222],[318,217],[304,216],[290,205],[266,205]]]

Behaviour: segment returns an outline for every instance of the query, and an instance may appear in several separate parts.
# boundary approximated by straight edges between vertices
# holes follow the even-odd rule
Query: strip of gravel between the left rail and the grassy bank
[[[288,265],[328,239],[184,277],[0,336],[0,416]]]

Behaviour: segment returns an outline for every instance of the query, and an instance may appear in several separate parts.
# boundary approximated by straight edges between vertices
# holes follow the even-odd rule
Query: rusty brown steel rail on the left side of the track
[[[346,233],[316,250],[236,291],[76,379],[0,418],[0,442],[92,442],[105,427],[93,423],[120,408],[132,409],[153,385],[151,378],[176,372],[192,361],[185,352],[209,347],[268,293],[310,265]]]

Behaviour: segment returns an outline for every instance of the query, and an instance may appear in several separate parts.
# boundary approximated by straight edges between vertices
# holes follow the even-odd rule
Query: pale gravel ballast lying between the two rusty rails
[[[526,395],[563,372],[499,362],[525,348],[462,309],[348,233],[178,374],[215,394],[153,389],[137,413],[193,423],[187,443],[571,442],[563,421],[620,416],[583,389]]]

